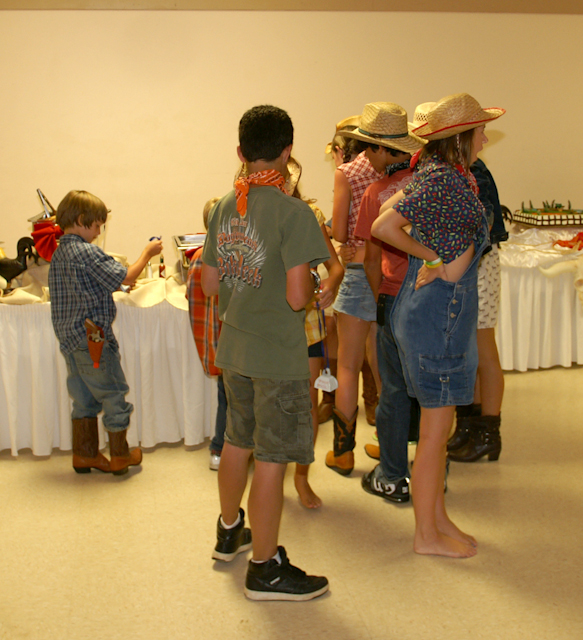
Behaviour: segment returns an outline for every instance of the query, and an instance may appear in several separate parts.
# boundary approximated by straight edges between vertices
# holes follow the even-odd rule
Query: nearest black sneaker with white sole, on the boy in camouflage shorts
[[[250,600],[312,600],[328,591],[328,580],[308,576],[289,563],[285,549],[277,547],[281,564],[275,559],[249,562],[245,578],[245,595]]]

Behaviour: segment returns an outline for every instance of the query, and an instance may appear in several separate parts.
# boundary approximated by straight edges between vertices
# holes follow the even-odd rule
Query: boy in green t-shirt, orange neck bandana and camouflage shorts
[[[243,115],[237,153],[247,176],[214,206],[202,256],[203,290],[219,294],[216,364],[228,402],[213,558],[249,549],[253,532],[245,581],[253,600],[310,600],[328,590],[326,578],[292,566],[277,545],[286,465],[314,459],[304,307],[314,292],[310,267],[329,257],[310,207],[284,190],[292,143],[282,109]],[[252,453],[249,530],[240,503]]]

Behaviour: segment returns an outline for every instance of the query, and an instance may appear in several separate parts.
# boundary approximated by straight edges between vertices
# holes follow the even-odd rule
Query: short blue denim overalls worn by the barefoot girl
[[[486,221],[484,225],[487,229]],[[419,240],[413,227],[411,236]],[[478,368],[478,264],[489,234],[458,282],[436,278],[415,291],[423,261],[409,268],[391,312],[407,392],[425,408],[471,404]]]

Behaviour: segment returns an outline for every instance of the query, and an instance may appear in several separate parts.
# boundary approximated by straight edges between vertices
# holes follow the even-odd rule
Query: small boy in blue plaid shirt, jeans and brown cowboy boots
[[[86,191],[70,191],[57,209],[57,224],[64,235],[49,269],[51,318],[67,363],[67,388],[73,399],[73,468],[77,473],[98,469],[121,475],[142,462],[139,448],[129,450],[126,431],[133,411],[126,402],[129,391],[121,368],[119,346],[112,323],[116,308],[113,292],[133,284],[162,241],[146,245],[131,267],[124,267],[91,244],[101,233],[109,213],[103,202]],[[89,353],[85,321],[102,330],[103,351],[98,366]],[[97,416],[109,434],[111,461],[99,452]]]

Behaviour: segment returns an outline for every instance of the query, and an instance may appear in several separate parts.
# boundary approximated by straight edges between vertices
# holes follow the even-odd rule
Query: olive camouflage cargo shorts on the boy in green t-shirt
[[[225,441],[253,449],[261,462],[314,461],[309,380],[248,378],[223,370],[227,394]]]

